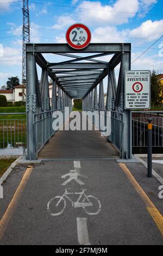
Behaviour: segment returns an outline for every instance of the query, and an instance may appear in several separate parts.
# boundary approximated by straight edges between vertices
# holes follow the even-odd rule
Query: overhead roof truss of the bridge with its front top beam
[[[47,70],[48,76],[69,97],[84,98],[108,75],[109,70],[114,71],[114,68],[121,63],[123,54],[130,53],[130,44],[90,44],[83,50],[75,50],[67,44],[27,44],[26,52],[34,54],[35,62],[43,70]],[[59,63],[49,63],[42,53],[57,54],[69,59]],[[80,56],[81,53],[85,56]],[[114,56],[109,62],[103,60],[104,56],[112,54]],[[113,77],[112,86],[115,87],[113,91],[116,103],[120,95],[116,95],[115,92],[114,74],[111,77]]]

